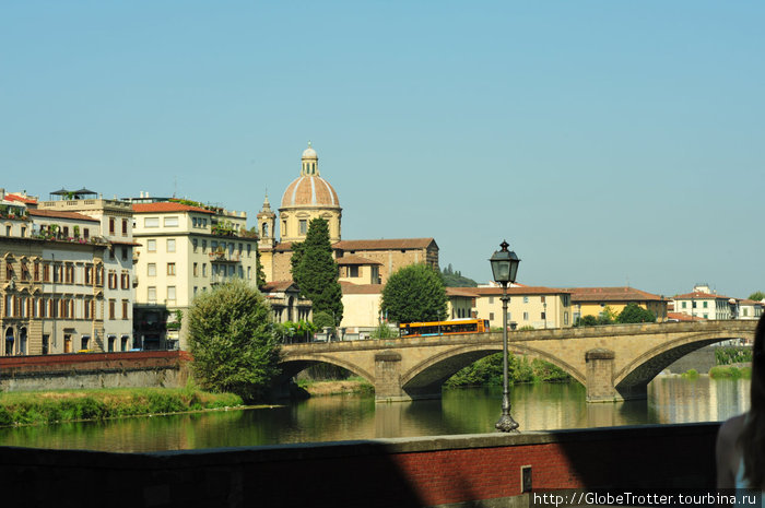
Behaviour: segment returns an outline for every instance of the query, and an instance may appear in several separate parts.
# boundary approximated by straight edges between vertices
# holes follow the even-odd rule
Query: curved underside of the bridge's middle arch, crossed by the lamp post
[[[401,375],[401,387],[410,394],[433,393],[462,368],[493,353],[502,352],[502,343],[468,344],[433,355]],[[581,385],[586,383],[584,373],[548,352],[514,343],[513,353],[532,356],[549,362],[569,374]]]

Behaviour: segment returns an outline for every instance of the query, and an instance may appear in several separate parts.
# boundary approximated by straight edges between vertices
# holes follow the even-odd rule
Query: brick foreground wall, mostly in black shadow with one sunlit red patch
[[[164,453],[0,448],[9,506],[529,506],[545,488],[711,488],[718,424]],[[480,503],[471,503],[480,501]]]

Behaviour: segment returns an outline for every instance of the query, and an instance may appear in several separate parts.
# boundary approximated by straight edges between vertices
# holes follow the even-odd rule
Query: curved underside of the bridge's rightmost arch
[[[704,346],[732,339],[754,339],[753,331],[710,331],[688,334],[664,342],[634,358],[620,371],[614,373],[613,383],[619,392],[629,392],[635,387],[647,386],[659,373],[676,359]]]

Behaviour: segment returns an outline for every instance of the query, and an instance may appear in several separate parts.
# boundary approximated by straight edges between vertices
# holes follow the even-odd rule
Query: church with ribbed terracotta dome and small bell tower
[[[396,270],[413,263],[438,270],[438,245],[433,238],[343,240],[338,193],[321,177],[319,157],[309,143],[303,152],[299,176],[284,190],[278,213],[266,197],[257,215],[258,248],[267,282],[292,279],[292,244],[305,240],[310,221],[317,217],[329,224],[332,251],[345,283],[385,284]]]

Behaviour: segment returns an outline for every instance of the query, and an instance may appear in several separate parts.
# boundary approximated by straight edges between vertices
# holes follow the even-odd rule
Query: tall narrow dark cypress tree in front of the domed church
[[[291,262],[292,279],[301,288],[301,294],[311,300],[314,312],[325,311],[332,316],[334,326],[340,324],[343,294],[338,282],[338,263],[332,258],[327,221],[310,221],[305,241],[293,244]]]

